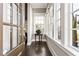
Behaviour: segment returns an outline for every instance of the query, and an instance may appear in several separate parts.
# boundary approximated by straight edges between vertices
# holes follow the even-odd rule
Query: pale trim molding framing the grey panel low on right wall
[[[57,47],[57,49],[59,48],[60,51],[63,51],[64,53],[66,53],[67,56],[75,56],[75,55],[72,54],[70,51],[68,51],[65,47],[63,47],[63,46],[61,46],[59,43],[55,42],[54,40],[52,40],[52,39],[51,39],[50,37],[48,37],[47,35],[46,35],[46,37],[47,37],[47,45],[48,45],[49,50],[50,50],[50,52],[52,53],[52,55],[54,55],[54,56],[60,56],[60,54],[57,54],[56,51],[54,51],[52,45],[50,45],[51,42],[49,42],[49,40],[51,40],[52,42],[54,42],[55,45],[56,45],[56,47]],[[64,55],[66,56],[66,54],[64,54]],[[63,54],[61,54],[61,55],[63,56]]]

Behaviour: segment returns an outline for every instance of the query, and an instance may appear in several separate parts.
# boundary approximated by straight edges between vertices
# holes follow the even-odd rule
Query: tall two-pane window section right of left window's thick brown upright
[[[12,4],[13,6],[13,26],[12,26],[12,48],[15,48],[17,46],[17,5],[16,4]],[[15,25],[15,26],[14,26]]]

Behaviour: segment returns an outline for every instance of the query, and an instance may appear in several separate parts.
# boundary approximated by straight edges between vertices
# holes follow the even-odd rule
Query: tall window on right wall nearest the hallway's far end
[[[54,37],[54,8],[53,5],[48,8],[48,29],[49,29],[49,36]]]

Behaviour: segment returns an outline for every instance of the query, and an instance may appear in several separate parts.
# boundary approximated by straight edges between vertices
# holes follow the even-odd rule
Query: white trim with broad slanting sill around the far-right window
[[[68,37],[68,41],[67,41],[67,46],[65,46],[65,48],[67,49],[67,50],[69,50],[70,52],[72,52],[74,55],[76,55],[76,56],[79,56],[79,49],[78,48],[76,48],[75,46],[73,46],[72,45],[72,30],[77,30],[77,28],[72,28],[72,14],[74,13],[74,12],[72,12],[72,5],[70,6],[70,27],[68,27],[69,28],[69,32],[70,32],[70,37]]]

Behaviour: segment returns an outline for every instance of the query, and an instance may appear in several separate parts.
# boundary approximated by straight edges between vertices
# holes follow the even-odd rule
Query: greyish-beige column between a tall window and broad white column
[[[61,28],[61,44],[62,45],[64,45],[64,34],[65,34],[65,32],[64,32],[64,21],[65,21],[65,13],[64,13],[64,4],[63,3],[61,3],[60,4],[60,7],[61,7],[61,9],[60,9],[60,28]]]

